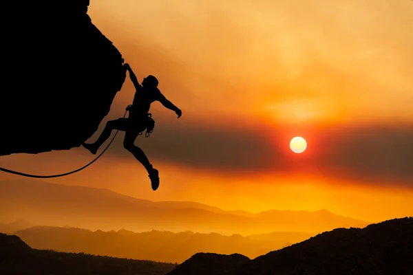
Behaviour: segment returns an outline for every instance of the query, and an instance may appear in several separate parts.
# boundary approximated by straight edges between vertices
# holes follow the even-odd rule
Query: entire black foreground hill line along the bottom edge
[[[180,265],[35,250],[0,234],[0,274],[411,275],[413,217],[337,228],[255,259],[197,253]]]

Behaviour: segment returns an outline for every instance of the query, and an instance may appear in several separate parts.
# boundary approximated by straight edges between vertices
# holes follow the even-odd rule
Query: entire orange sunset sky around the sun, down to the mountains
[[[136,140],[160,171],[156,192],[123,133],[86,170],[47,181],[224,210],[413,215],[413,1],[99,0],[88,14],[182,118],[156,102],[151,137]],[[127,76],[91,141],[133,96]],[[0,166],[50,175],[93,158],[73,148]]]

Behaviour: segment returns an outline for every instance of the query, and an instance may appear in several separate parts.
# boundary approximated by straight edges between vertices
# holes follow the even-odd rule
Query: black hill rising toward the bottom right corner
[[[212,259],[211,259],[212,258]],[[412,275],[413,218],[393,219],[366,228],[338,228],[307,241],[270,252],[244,264],[231,275]],[[182,263],[169,275],[215,275],[204,268],[222,255]],[[233,262],[221,262],[233,268]]]

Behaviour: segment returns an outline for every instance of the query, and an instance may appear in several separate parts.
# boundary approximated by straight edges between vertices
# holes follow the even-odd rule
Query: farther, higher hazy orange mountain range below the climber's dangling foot
[[[90,230],[147,232],[215,232],[263,234],[319,233],[369,223],[327,210],[268,210],[258,214],[224,211],[202,203],[156,202],[120,195],[107,189],[65,186],[37,180],[0,181],[0,221],[26,219],[36,225]]]

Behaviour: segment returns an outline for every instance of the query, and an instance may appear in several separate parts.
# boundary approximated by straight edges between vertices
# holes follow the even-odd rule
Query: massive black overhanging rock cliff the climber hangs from
[[[120,52],[87,15],[89,0],[4,2],[0,155],[80,146],[125,81]]]

